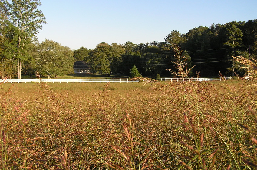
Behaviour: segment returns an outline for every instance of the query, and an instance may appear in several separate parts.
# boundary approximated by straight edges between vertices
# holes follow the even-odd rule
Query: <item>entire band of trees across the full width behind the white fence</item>
[[[176,77],[179,46],[189,74],[194,76],[244,75],[245,70],[232,56],[256,58],[257,20],[232,21],[200,26],[185,34],[173,30],[163,42],[135,44],[99,43],[95,49],[71,51],[52,40],[39,43],[37,33],[46,23],[39,0],[0,0],[0,73],[1,77],[21,78],[21,74],[57,76],[72,74],[76,60],[85,61],[95,74],[129,75],[136,67],[145,77]],[[250,50],[249,50],[250,49]]]

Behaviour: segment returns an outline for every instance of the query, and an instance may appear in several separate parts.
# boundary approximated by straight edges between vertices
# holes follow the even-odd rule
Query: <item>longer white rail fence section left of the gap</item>
[[[0,80],[0,82],[4,83],[40,83],[40,82],[48,82],[48,83],[122,83],[122,82],[139,82],[139,80],[134,79],[6,79]]]

